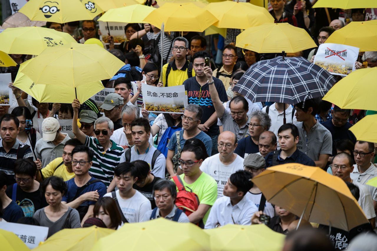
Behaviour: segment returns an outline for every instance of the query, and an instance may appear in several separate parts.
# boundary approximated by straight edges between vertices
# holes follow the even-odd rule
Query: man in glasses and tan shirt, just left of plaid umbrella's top
[[[224,84],[225,90],[228,90],[230,77],[233,73],[233,66],[237,61],[237,49],[234,45],[228,44],[222,51],[222,66],[215,69],[213,77],[218,78]]]

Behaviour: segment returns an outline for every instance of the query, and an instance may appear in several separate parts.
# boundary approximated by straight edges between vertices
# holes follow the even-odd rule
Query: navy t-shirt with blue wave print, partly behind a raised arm
[[[219,93],[220,100],[222,102],[228,101],[227,92],[222,81],[215,77],[213,78],[213,81],[215,81],[214,85]],[[196,77],[192,77],[185,80],[183,85],[185,86],[185,90],[187,90],[189,104],[196,104],[203,109],[201,124],[204,124],[205,121],[207,121],[215,112],[215,107],[213,107],[208,84],[201,86],[198,81],[196,81]],[[217,135],[218,130],[219,126],[217,125],[217,122],[215,122],[210,129],[208,129],[207,134],[209,136]]]

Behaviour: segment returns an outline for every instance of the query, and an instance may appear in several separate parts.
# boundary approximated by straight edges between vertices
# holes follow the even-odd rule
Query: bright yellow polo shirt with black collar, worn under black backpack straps
[[[187,67],[189,66],[189,61],[186,60],[185,65],[181,69],[177,69],[177,66],[175,65],[175,60],[173,60],[172,69],[170,69],[169,76],[167,79],[167,85],[166,85],[166,69],[168,64],[165,64],[162,66],[162,83],[164,86],[180,86],[183,84],[185,80],[187,80]],[[195,76],[195,71],[192,69],[192,76]]]

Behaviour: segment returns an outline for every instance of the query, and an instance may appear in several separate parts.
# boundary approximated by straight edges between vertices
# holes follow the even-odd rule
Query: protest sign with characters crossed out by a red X
[[[320,44],[314,64],[329,73],[346,76],[355,70],[355,62],[359,56],[359,48],[344,44]]]

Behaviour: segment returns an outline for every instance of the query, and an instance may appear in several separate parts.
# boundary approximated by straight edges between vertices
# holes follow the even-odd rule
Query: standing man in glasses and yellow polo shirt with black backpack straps
[[[174,60],[162,67],[161,83],[164,86],[179,86],[187,78],[195,76],[192,63],[186,60],[189,54],[189,41],[184,37],[177,37],[172,47]]]

